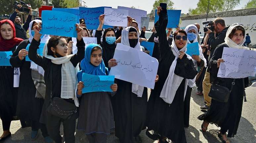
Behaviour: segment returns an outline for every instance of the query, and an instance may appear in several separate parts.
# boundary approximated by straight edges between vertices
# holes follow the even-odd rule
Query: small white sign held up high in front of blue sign
[[[128,10],[104,8],[104,24],[109,26],[127,26]]]

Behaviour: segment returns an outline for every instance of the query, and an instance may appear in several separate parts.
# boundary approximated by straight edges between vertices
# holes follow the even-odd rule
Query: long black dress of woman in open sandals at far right
[[[213,83],[218,83],[221,86],[231,88],[233,79],[218,78],[217,60],[222,58],[223,48],[228,47],[226,44],[220,44],[216,47],[212,58],[209,62],[210,80]],[[212,99],[211,106],[208,111],[197,118],[207,121],[221,127],[221,132],[225,133],[229,130],[228,137],[234,137],[238,124],[241,118],[243,105],[243,79],[235,79],[235,85],[230,93],[227,103],[218,102]]]

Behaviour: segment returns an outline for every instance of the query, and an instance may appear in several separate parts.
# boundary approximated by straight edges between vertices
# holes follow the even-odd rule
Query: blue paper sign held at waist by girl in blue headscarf
[[[84,88],[82,93],[87,92],[113,92],[110,86],[114,84],[115,76],[95,76],[83,73],[82,82],[84,83]]]

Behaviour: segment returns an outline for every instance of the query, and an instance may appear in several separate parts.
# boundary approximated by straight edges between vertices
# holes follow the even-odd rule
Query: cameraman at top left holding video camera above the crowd
[[[18,7],[20,8],[21,6],[18,5]],[[15,25],[15,29],[16,29],[16,37],[18,38],[22,38],[24,40],[28,39],[27,38],[27,30],[29,27],[29,23],[31,22],[32,19],[32,9],[30,7],[30,11],[29,14],[27,16],[27,20],[26,23],[22,26],[22,22],[21,22],[21,18],[19,16],[17,16],[17,13],[20,12],[18,9],[15,9],[15,11],[13,12],[13,14],[10,17],[10,20],[14,23]]]

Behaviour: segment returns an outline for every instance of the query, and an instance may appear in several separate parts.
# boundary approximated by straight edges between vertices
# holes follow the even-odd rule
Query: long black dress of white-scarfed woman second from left
[[[13,53],[10,59],[10,63],[14,67],[20,68],[20,83],[18,90],[18,103],[17,103],[17,115],[20,119],[26,122],[37,121],[39,122],[41,110],[44,100],[35,98],[36,88],[31,76],[30,61],[19,59],[19,52],[21,49],[26,49],[28,40],[24,40],[20,43],[18,48]]]

